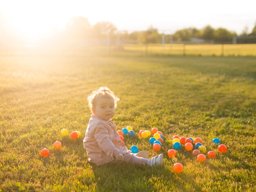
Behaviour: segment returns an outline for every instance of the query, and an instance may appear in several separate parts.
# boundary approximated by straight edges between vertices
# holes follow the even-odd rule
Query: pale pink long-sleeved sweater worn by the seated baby
[[[117,125],[111,120],[105,121],[97,115],[91,115],[83,139],[90,162],[103,165],[115,160],[115,155],[129,152],[116,128]]]

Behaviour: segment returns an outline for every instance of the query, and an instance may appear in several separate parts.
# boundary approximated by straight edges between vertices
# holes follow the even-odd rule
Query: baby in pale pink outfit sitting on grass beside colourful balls
[[[88,96],[87,100],[92,115],[85,132],[83,146],[90,162],[96,165],[109,162],[163,165],[163,154],[148,159],[148,152],[133,154],[126,148],[117,133],[117,125],[111,121],[119,98],[108,87],[99,87]]]

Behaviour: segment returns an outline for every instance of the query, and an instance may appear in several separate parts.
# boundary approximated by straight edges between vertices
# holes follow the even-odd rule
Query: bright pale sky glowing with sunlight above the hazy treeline
[[[34,38],[63,29],[74,16],[88,18],[91,25],[109,21],[127,31],[152,25],[161,33],[174,33],[211,25],[240,34],[255,26],[255,7],[256,0],[0,0],[0,22]]]

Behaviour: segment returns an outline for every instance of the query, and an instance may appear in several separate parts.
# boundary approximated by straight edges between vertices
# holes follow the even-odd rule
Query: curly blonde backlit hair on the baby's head
[[[106,98],[113,98],[115,101],[115,108],[117,107],[117,101],[120,99],[115,96],[114,92],[112,92],[108,87],[99,87],[99,89],[93,91],[91,94],[88,95],[88,105],[92,112],[92,107],[95,107],[96,105],[96,96],[103,95]]]

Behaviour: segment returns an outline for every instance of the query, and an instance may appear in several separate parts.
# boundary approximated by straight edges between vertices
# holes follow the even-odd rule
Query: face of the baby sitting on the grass
[[[92,107],[92,112],[105,121],[109,121],[115,115],[114,98],[106,98],[102,95],[98,95],[96,98],[95,108]]]

